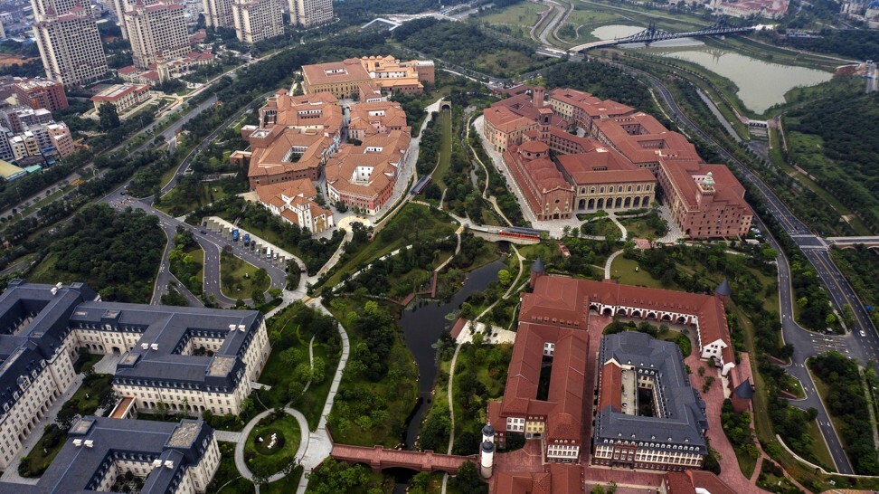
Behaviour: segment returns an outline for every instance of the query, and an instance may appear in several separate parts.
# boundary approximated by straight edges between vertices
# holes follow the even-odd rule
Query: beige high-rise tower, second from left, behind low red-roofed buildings
[[[139,0],[123,14],[135,66],[173,60],[189,52],[184,6],[174,0],[144,5]]]

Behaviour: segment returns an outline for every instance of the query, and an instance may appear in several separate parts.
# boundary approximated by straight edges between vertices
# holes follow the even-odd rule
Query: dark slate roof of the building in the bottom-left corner
[[[191,436],[191,441],[185,445],[169,445],[169,440],[181,428]],[[213,429],[202,421],[164,423],[84,417],[71,427],[67,442],[35,486],[0,482],[0,492],[93,492],[109,463],[123,460],[128,455],[133,455],[128,458],[149,464],[154,460],[162,461],[162,466],[147,475],[142,494],[175,492],[185,468],[201,461],[212,437]],[[75,440],[83,443],[76,446]],[[85,445],[87,440],[92,442],[92,447]],[[165,461],[173,462],[170,468],[165,466]]]

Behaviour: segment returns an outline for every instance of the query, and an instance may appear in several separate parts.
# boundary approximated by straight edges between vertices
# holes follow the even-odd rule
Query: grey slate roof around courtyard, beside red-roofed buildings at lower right
[[[621,366],[635,366],[638,375],[654,372],[656,393],[664,411],[660,416],[622,413],[607,406],[595,421],[594,443],[604,440],[678,444],[698,447],[707,454],[703,431],[708,429],[702,396],[690,386],[684,358],[675,343],[657,340],[644,333],[627,331],[601,338],[599,366],[610,359]]]

